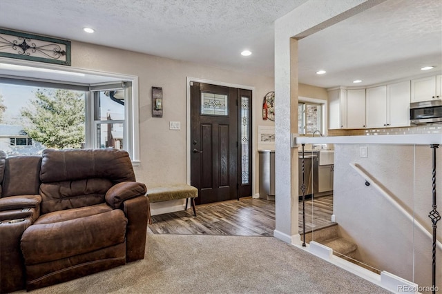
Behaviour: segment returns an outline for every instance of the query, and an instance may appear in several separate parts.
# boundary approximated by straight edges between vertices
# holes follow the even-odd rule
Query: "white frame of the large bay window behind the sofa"
[[[39,77],[23,77],[23,72],[17,70],[3,69],[2,64],[12,66],[26,66],[32,68],[39,73]],[[61,79],[53,79],[54,72],[64,72],[66,75],[60,75]],[[30,75],[32,76],[32,75]],[[76,81],[80,77],[83,77],[82,82]],[[45,78],[47,77],[47,78]],[[52,79],[50,79],[52,77]],[[100,83],[87,83],[87,79],[90,81],[106,80],[108,82]],[[23,86],[39,86],[44,88],[65,88],[68,90],[86,90],[86,110],[85,118],[90,122],[89,127],[86,127],[86,144],[85,148],[94,148],[95,135],[93,134],[93,95],[90,88],[102,86],[103,84],[115,84],[117,81],[130,82],[131,87],[126,88],[126,101],[125,101],[125,119],[124,119],[124,150],[126,150],[132,160],[133,166],[140,165],[140,138],[139,138],[139,110],[138,110],[138,77],[133,75],[114,74],[109,72],[99,72],[95,70],[86,70],[81,68],[66,68],[66,66],[58,66],[51,64],[41,65],[35,61],[22,61],[15,59],[7,59],[0,57],[0,83],[2,84],[18,84]]]

